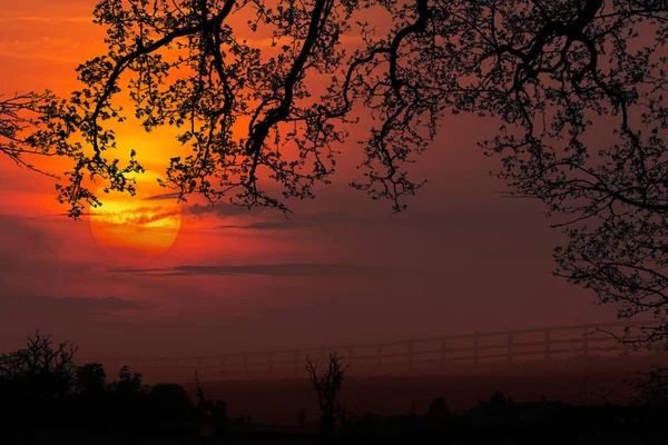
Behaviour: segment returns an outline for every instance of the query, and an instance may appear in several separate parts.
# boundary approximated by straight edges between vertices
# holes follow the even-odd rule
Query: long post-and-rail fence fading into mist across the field
[[[197,370],[209,379],[289,378],[302,376],[306,356],[326,359],[337,352],[350,360],[351,374],[428,370],[445,373],[462,367],[517,362],[563,363],[574,356],[628,355],[631,348],[610,333],[621,336],[626,323],[548,326],[469,335],[413,338],[358,345],[334,345],[297,349],[183,357],[86,357],[109,370],[128,365],[153,380],[191,376]],[[633,326],[651,326],[635,322]],[[627,337],[629,339],[639,336]]]

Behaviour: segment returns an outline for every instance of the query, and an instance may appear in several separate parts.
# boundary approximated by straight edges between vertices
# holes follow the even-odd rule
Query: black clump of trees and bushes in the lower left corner
[[[199,425],[225,424],[225,404],[202,387],[194,404],[181,385],[151,387],[128,366],[108,382],[102,364],[78,366],[76,353],[76,344],[37,332],[24,348],[0,356],[0,424],[10,443],[84,432],[194,435]]]

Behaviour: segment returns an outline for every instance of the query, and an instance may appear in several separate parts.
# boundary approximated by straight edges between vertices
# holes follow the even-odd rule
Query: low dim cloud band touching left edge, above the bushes
[[[50,318],[77,318],[82,316],[110,315],[114,313],[146,312],[153,304],[121,298],[11,296],[0,297],[0,314],[18,317],[30,315]],[[3,318],[0,316],[0,318]]]

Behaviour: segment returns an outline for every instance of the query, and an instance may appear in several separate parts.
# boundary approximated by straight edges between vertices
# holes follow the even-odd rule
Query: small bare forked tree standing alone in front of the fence
[[[340,412],[336,397],[343,385],[343,377],[350,363],[343,366],[343,357],[338,357],[336,352],[330,353],[327,359],[327,370],[317,375],[317,362],[313,363],[310,355],[306,355],[306,370],[313,385],[313,390],[317,395],[318,408],[321,412],[321,432],[323,436],[330,437],[336,431],[336,414]]]

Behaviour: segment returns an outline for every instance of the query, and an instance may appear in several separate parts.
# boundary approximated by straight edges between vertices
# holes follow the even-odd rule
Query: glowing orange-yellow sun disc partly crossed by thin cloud
[[[90,231],[98,245],[122,263],[143,263],[165,254],[181,226],[174,199],[155,200],[98,192],[102,205],[90,209]]]

